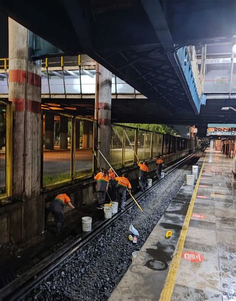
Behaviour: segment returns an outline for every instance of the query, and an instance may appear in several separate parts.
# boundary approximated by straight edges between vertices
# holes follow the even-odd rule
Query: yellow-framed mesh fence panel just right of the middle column
[[[110,161],[114,167],[122,166],[122,139],[123,127],[111,126]]]

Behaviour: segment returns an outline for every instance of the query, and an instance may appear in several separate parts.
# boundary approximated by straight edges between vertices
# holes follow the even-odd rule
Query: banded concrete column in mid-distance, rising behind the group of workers
[[[110,161],[110,139],[111,139],[111,108],[112,108],[112,73],[100,65],[99,85],[96,85],[99,97],[98,113],[98,142],[99,149]],[[102,167],[108,168],[108,164],[98,154],[98,159]]]

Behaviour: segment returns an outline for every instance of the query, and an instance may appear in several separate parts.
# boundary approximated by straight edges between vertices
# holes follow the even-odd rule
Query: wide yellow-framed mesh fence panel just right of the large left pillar
[[[70,180],[70,117],[46,112],[43,115],[43,186]]]

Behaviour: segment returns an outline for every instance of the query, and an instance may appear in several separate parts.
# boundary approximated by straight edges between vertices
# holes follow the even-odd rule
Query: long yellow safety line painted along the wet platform
[[[205,159],[206,159],[206,157],[205,157]],[[204,167],[205,159],[203,161],[203,165],[202,165],[201,171],[199,173],[198,181],[196,183],[191,201],[189,203],[188,211],[187,211],[187,214],[185,216],[184,224],[183,224],[182,230],[180,232],[180,236],[179,236],[179,239],[178,239],[178,242],[177,242],[177,246],[176,246],[176,249],[175,249],[171,264],[170,264],[169,272],[168,272],[168,275],[166,277],[165,285],[164,285],[164,288],[161,292],[161,296],[160,296],[159,301],[170,301],[171,300],[172,292],[173,292],[173,289],[174,289],[174,286],[175,286],[175,279],[176,279],[176,275],[177,275],[177,272],[178,272],[181,255],[182,255],[182,252],[183,252],[184,242],[185,242],[185,238],[186,238],[186,235],[187,235],[190,218],[191,218],[191,215],[192,215],[192,212],[193,212],[194,202],[195,202],[195,199],[196,199],[196,196],[197,196],[199,183],[200,183],[202,173],[203,173],[203,167]]]

